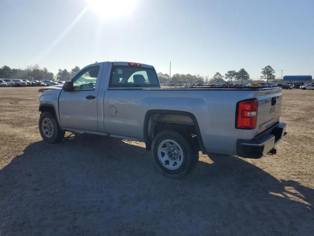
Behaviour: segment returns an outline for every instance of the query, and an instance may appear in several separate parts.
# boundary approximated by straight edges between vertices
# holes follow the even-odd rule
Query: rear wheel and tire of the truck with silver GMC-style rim
[[[166,177],[181,178],[198,162],[198,150],[182,134],[173,130],[158,133],[152,143],[153,161]]]

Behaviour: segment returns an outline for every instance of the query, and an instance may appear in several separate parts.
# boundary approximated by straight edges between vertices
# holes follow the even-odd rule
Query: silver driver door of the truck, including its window
[[[62,89],[59,113],[64,128],[97,131],[97,93],[102,69],[102,65],[88,67],[73,78],[74,91]]]

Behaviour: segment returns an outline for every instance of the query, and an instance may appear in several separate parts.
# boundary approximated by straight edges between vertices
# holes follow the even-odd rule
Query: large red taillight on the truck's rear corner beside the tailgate
[[[257,99],[248,99],[236,104],[235,128],[255,129],[257,120]]]

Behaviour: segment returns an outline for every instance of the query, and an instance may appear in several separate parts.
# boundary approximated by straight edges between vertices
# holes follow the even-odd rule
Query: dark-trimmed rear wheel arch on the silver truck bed
[[[151,149],[153,138],[156,135],[154,133],[154,130],[158,122],[178,125],[193,125],[196,132],[199,147],[203,153],[207,153],[196,117],[190,112],[177,110],[149,110],[146,112],[144,119],[144,134],[143,134],[146,149],[148,150]]]

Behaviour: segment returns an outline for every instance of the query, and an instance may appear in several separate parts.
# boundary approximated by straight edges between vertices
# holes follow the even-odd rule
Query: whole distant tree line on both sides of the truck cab
[[[73,75],[79,71],[79,67],[75,66],[70,71],[67,69],[59,69],[57,74],[54,75],[52,72],[48,71],[46,67],[41,69],[37,64],[32,66],[27,66],[26,69],[11,69],[9,66],[2,66],[0,68],[0,78],[2,79],[21,79],[21,80],[59,80],[68,81]],[[261,80],[274,80],[275,70],[267,65],[262,68]],[[239,71],[229,70],[224,76],[219,72],[216,72],[212,78],[209,76],[191,75],[191,74],[174,74],[171,78],[168,74],[158,72],[157,76],[160,83],[165,82],[187,82],[187,83],[225,83],[226,81],[241,81],[243,82],[253,82],[250,79],[249,73],[241,68]]]

